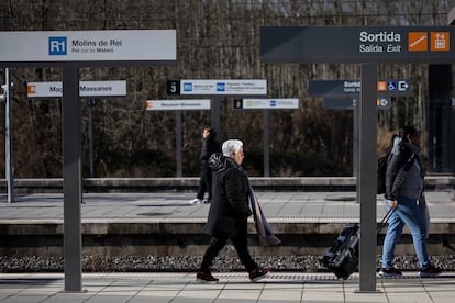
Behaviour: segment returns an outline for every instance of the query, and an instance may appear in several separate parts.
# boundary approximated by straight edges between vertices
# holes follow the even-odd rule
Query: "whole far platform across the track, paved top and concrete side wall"
[[[359,222],[362,202],[355,192],[256,192],[262,209],[282,240],[276,247],[255,243],[249,218],[248,234],[254,255],[321,255],[347,223]],[[3,200],[4,199],[4,200]],[[206,249],[204,226],[210,204],[190,204],[193,193],[85,193],[80,205],[82,254],[100,256],[195,256]],[[5,202],[0,195],[0,254],[60,256],[64,231],[62,193],[16,195]],[[455,199],[452,191],[426,193],[431,214],[429,251],[453,255]],[[364,202],[366,203],[366,202]],[[377,222],[385,213],[377,195]],[[384,231],[382,231],[384,233]],[[407,231],[404,231],[404,234]],[[397,255],[413,254],[408,243]],[[122,245],[119,245],[122,243]],[[408,250],[406,250],[408,249]]]

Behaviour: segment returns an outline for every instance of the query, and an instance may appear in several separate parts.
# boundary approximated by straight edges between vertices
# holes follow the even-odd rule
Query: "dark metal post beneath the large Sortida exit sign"
[[[359,175],[357,201],[360,203],[360,292],[376,290],[376,137],[378,124],[377,64],[362,65],[362,91],[358,117]]]

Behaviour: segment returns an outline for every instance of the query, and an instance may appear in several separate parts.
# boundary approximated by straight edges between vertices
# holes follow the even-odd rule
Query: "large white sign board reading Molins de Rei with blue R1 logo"
[[[175,30],[0,32],[0,63],[176,60]]]

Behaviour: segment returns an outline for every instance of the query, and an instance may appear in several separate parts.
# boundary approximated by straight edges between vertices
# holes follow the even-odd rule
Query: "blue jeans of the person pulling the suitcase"
[[[385,200],[386,207],[389,209],[388,201]],[[382,247],[382,267],[393,266],[393,250],[398,239],[401,237],[404,224],[412,235],[419,266],[424,268],[430,265],[429,252],[426,250],[426,225],[415,199],[408,197],[398,198],[398,209],[389,218],[386,238]]]

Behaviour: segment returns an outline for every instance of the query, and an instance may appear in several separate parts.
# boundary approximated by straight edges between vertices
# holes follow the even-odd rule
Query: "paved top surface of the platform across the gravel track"
[[[258,192],[258,200],[270,222],[353,222],[359,220],[355,192]],[[82,222],[198,221],[204,222],[209,204],[191,205],[191,193],[85,193]],[[0,195],[1,222],[62,222],[63,194],[18,195],[7,203]],[[426,201],[432,222],[455,221],[453,192],[429,192]],[[385,214],[377,197],[377,216]]]

